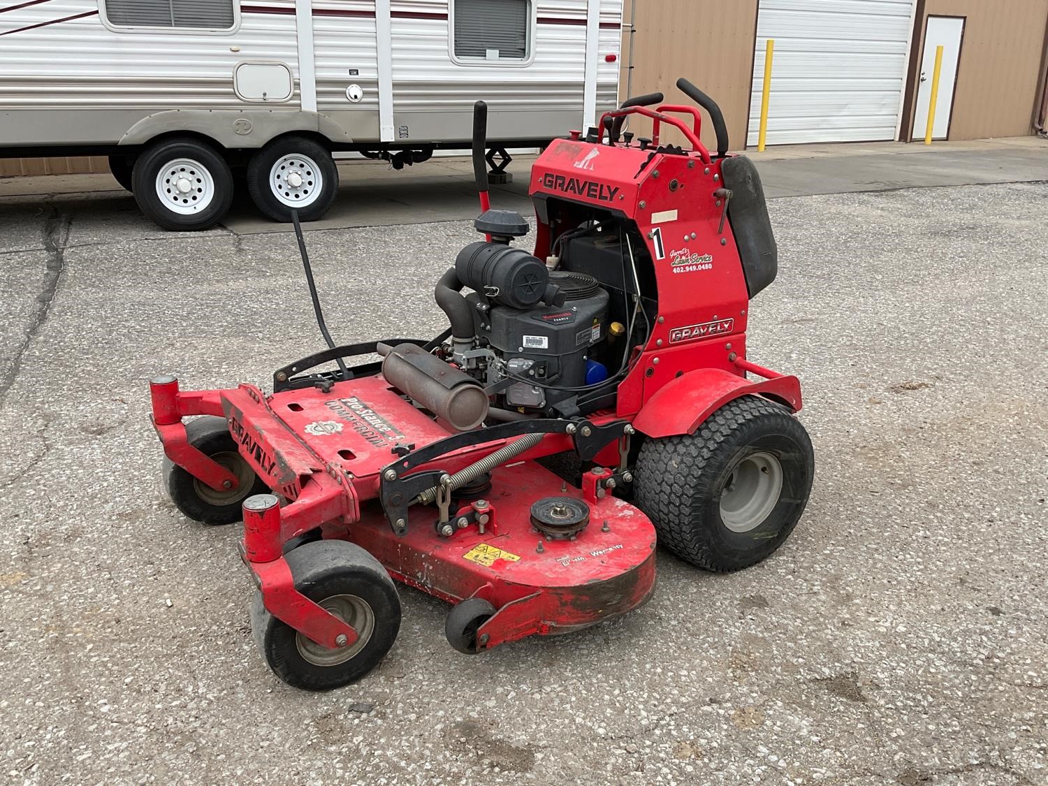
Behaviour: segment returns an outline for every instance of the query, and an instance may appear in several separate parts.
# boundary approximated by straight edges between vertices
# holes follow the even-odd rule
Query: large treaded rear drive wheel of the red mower
[[[811,493],[814,454],[784,408],[742,396],[695,434],[649,439],[635,473],[636,501],[659,543],[685,562],[727,572],[770,555]]]

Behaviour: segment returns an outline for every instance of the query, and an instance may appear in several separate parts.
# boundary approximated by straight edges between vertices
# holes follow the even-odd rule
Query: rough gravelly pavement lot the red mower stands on
[[[730,575],[660,554],[636,613],[476,658],[401,589],[389,657],[326,695],[260,660],[237,527],[177,514],[148,422],[155,373],[267,386],[322,346],[293,238],[30,202],[0,302],[36,303],[51,206],[71,223],[0,405],[6,780],[1048,783],[1048,187],[774,200],[749,354],[801,377],[818,467],[786,546]],[[432,283],[474,239],[309,233],[331,332],[438,332]]]

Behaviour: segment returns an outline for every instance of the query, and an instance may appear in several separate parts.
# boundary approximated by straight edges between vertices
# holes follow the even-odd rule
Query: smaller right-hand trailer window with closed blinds
[[[455,57],[527,60],[529,0],[454,0]]]

